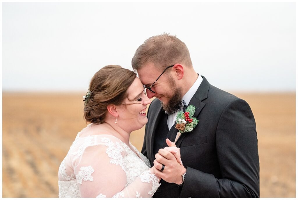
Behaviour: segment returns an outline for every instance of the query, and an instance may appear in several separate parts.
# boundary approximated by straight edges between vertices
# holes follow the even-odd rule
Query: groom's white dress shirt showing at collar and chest
[[[195,92],[198,90],[198,87],[201,85],[202,81],[203,81],[203,78],[202,78],[202,76],[199,75],[197,80],[193,84],[193,86],[191,86],[191,88],[187,91],[187,93],[185,93],[185,95],[182,97],[182,100],[185,101],[186,105],[189,104],[191,98],[193,98],[193,96],[195,95]],[[177,112],[174,112],[173,114],[170,114],[168,116],[167,125],[169,127],[169,130],[174,125],[175,120],[176,120],[176,116],[177,116]]]

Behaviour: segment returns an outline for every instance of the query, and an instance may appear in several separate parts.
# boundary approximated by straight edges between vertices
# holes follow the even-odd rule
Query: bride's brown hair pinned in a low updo
[[[119,65],[107,65],[97,71],[89,85],[90,95],[85,102],[84,118],[87,122],[102,124],[107,106],[120,105],[128,96],[128,87],[136,73]]]

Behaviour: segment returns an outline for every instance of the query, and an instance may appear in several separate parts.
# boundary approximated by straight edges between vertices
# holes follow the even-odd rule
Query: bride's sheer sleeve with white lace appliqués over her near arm
[[[160,185],[153,170],[145,165],[147,169],[131,180],[130,173],[134,173],[138,163],[126,163],[129,162],[126,159],[128,146],[113,137],[99,140],[84,148],[80,159],[74,163],[81,197],[153,196]]]

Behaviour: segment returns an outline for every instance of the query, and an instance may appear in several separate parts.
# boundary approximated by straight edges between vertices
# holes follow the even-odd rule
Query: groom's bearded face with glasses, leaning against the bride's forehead
[[[170,111],[170,109],[181,102],[182,99],[182,91],[179,87],[176,86],[176,82],[171,76],[170,70],[172,68],[167,69],[169,70],[169,74],[160,74],[162,73],[162,69],[158,70],[153,63],[148,63],[142,66],[141,69],[137,70],[139,79],[141,80],[142,84],[145,86],[150,87],[154,81],[159,77],[159,79],[154,83],[151,89],[155,92],[152,93],[151,91],[147,90],[147,96],[151,99],[153,97],[158,98],[162,101],[162,107],[166,111]],[[178,103],[177,103],[178,102]]]

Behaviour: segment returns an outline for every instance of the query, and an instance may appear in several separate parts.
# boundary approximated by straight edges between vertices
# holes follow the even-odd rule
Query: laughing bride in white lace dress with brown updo
[[[84,99],[91,124],[77,134],[59,167],[59,197],[153,196],[160,177],[129,142],[130,133],[147,123],[150,102],[133,71],[108,65],[94,74]],[[179,162],[175,148],[166,150]]]

